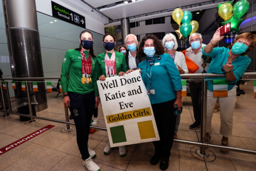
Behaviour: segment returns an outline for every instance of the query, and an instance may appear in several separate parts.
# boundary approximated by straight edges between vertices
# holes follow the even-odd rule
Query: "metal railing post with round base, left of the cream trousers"
[[[207,81],[204,77],[202,82],[202,109],[201,109],[201,143],[205,143],[206,139],[206,112],[207,112]],[[206,147],[201,146],[200,150],[197,150],[197,154],[202,157],[208,157],[209,154],[205,151]]]

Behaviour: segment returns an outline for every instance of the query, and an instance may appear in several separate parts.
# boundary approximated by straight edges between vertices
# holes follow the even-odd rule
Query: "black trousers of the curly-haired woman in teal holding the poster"
[[[176,116],[173,115],[173,104],[176,99],[159,104],[152,104],[156,126],[160,136],[159,141],[154,141],[155,153],[163,157],[171,155]]]

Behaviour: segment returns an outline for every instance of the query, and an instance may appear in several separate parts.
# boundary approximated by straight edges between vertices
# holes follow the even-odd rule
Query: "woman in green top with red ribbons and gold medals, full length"
[[[63,103],[70,109],[74,118],[76,140],[83,166],[89,171],[99,171],[100,167],[91,160],[96,156],[95,151],[88,146],[91,118],[94,108],[99,104],[93,35],[89,31],[82,31],[79,41],[79,48],[68,50],[62,63]]]

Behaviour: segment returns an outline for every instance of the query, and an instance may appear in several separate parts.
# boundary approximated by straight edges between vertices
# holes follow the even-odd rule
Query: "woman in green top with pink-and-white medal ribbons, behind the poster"
[[[96,66],[96,69],[99,80],[104,81],[106,78],[111,76],[124,75],[126,72],[125,56],[114,50],[114,35],[106,33],[103,37],[102,43],[106,51],[97,56],[98,65]],[[111,151],[112,149],[108,143],[104,148],[104,154],[109,154]],[[119,155],[126,155],[126,148],[124,146],[119,147]]]

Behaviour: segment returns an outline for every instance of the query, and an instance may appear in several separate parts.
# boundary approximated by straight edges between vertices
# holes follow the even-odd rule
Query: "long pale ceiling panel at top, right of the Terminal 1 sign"
[[[100,12],[113,20],[119,18],[152,13],[165,9],[177,8],[180,6],[191,5],[205,2],[205,0],[137,0],[128,4],[119,4],[113,7],[102,8]]]

